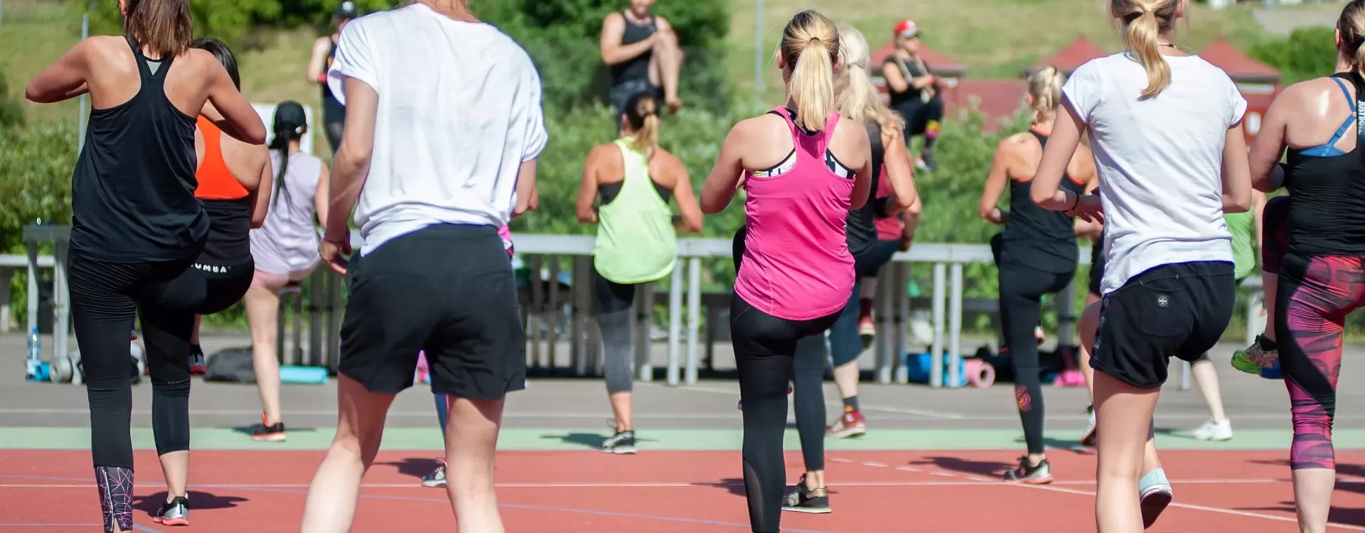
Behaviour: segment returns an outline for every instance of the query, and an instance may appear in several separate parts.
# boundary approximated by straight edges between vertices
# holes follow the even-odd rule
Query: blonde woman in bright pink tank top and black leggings
[[[867,128],[841,123],[834,112],[834,23],[815,11],[796,14],[782,31],[777,63],[789,101],[736,124],[702,188],[707,214],[729,206],[741,176],[748,191],[730,338],[744,402],[744,484],[756,533],[777,532],[781,519],[786,386],[796,344],[827,330],[848,303],[854,273],[845,221],[872,187]],[[822,481],[800,496],[827,502]]]

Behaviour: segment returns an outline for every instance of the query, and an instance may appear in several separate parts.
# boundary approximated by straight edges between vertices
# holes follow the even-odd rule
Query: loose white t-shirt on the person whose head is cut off
[[[541,76],[516,41],[412,4],[345,26],[328,72],[341,104],[347,78],[379,95],[362,255],[435,224],[508,224],[517,170],[547,142]]]

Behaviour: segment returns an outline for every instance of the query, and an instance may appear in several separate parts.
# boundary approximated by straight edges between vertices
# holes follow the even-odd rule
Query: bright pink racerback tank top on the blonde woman
[[[837,165],[827,150],[838,113],[814,134],[801,131],[786,108],[774,115],[792,130],[796,162],[777,176],[745,173],[748,236],[734,294],[779,319],[818,319],[844,308],[853,290],[845,236],[853,176],[830,166]]]

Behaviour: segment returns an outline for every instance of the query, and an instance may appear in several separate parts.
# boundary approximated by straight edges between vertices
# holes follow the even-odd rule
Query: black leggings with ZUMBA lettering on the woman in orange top
[[[232,267],[194,264],[171,282],[146,290],[143,301],[149,304],[142,308],[142,330],[147,337],[147,361],[162,359],[176,368],[160,379],[152,375],[152,433],[157,455],[190,450],[188,360],[180,374],[184,357],[179,353],[188,354],[194,315],[213,315],[232,307],[247,293],[254,273],[255,263],[250,259]],[[149,329],[149,320],[161,323],[160,331]],[[165,338],[153,341],[153,334]]]

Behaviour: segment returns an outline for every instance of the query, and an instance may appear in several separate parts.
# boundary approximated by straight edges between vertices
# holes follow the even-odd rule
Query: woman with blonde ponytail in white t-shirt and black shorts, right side
[[[1081,331],[1096,369],[1100,533],[1141,532],[1171,502],[1152,412],[1170,359],[1197,360],[1233,316],[1223,213],[1252,203],[1246,101],[1226,72],[1171,42],[1188,3],[1111,0],[1129,49],[1066,82],[1029,194],[1039,206],[1106,224],[1103,300],[1087,308],[1099,314],[1099,331]],[[1059,187],[1082,132],[1099,195]]]

